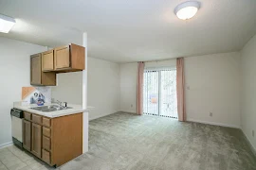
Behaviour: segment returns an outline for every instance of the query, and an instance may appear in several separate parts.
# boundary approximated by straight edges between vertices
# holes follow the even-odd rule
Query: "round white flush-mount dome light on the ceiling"
[[[189,20],[191,19],[198,9],[200,8],[200,3],[197,1],[188,1],[178,5],[174,9],[174,13],[181,20]]]

